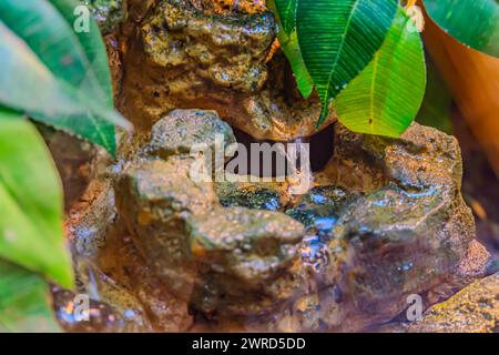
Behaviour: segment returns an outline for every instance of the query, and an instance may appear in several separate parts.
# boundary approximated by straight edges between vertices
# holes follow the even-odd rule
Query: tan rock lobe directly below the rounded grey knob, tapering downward
[[[210,184],[189,179],[192,160],[153,160],[128,168],[116,183],[116,206],[134,244],[179,296],[192,291],[186,219],[207,213],[216,196]]]

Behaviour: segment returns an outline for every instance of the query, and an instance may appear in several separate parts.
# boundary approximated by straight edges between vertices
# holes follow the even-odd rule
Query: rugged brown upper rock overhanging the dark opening
[[[289,140],[316,132],[318,98],[299,98],[271,12],[206,12],[206,1],[165,0],[149,8],[126,41],[120,106],[138,126],[174,109],[215,110],[258,139]],[[332,114],[324,124],[335,120]]]

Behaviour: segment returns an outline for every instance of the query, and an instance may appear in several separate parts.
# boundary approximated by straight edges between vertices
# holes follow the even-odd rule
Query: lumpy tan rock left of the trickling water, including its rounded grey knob
[[[210,111],[161,120],[141,156],[119,174],[116,206],[134,245],[176,297],[205,314],[268,313],[301,285],[289,270],[305,231],[283,213],[224,209],[211,182],[191,179],[191,145],[211,144],[216,134],[234,140]]]

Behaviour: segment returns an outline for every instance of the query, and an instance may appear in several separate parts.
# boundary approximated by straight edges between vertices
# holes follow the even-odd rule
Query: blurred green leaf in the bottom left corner
[[[42,277],[0,260],[0,333],[55,333],[49,286]]]

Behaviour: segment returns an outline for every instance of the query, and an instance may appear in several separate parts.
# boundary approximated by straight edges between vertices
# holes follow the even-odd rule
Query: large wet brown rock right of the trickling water
[[[483,275],[488,254],[473,240],[460,195],[455,139],[417,124],[400,140],[336,133],[330,181],[352,189],[355,180],[337,174],[346,163],[350,174],[371,172],[375,180],[358,185],[364,194],[347,204],[327,241],[329,263],[316,276],[320,307],[306,312],[316,320],[309,324],[358,331],[395,317],[411,294],[435,303],[432,294],[449,296]]]

